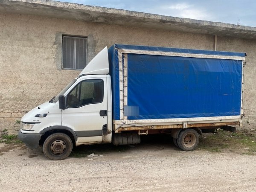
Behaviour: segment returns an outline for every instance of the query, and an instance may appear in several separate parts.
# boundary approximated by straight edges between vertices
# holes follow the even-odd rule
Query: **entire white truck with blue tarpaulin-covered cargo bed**
[[[62,160],[73,146],[139,144],[170,134],[184,151],[203,132],[241,126],[245,53],[114,44],[26,113],[18,137]]]

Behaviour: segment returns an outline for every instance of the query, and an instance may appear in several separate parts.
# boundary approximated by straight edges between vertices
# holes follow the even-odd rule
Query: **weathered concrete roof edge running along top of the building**
[[[0,12],[256,39],[256,27],[51,0],[0,0]]]

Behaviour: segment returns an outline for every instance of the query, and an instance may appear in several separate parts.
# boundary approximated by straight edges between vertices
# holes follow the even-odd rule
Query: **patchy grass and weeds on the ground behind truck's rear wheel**
[[[236,133],[219,130],[215,134],[203,134],[198,148],[211,152],[228,150],[240,154],[256,154],[256,133],[248,130]]]

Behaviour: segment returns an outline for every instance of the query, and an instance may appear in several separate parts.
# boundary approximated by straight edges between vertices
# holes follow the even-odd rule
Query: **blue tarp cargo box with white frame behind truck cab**
[[[114,44],[108,54],[116,128],[241,123],[245,53]]]

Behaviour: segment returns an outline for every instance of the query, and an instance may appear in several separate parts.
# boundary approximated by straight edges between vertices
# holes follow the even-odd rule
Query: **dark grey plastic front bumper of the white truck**
[[[28,148],[38,148],[39,140],[42,134],[24,134],[18,132],[18,138],[26,144]]]

